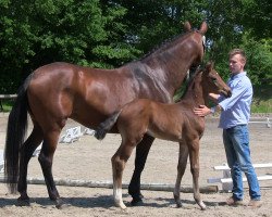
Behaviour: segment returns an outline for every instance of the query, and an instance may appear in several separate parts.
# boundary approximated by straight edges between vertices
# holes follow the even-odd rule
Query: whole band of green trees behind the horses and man
[[[271,79],[271,1],[0,0],[0,92],[14,93],[55,61],[112,68],[183,33],[209,25],[206,61],[228,77],[227,53],[244,48],[254,85]]]

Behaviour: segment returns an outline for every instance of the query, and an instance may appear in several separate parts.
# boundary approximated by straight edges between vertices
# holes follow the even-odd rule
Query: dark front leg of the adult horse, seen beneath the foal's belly
[[[133,197],[131,205],[133,206],[139,204],[143,201],[143,195],[140,193],[140,175],[144,170],[153,140],[153,137],[145,135],[140,143],[136,146],[135,169],[128,186],[128,193]]]

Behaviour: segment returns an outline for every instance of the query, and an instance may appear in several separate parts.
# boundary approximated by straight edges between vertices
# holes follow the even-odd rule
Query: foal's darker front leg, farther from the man
[[[181,181],[183,175],[185,173],[188,159],[188,148],[185,143],[180,142],[180,156],[178,156],[178,164],[177,164],[177,176],[174,189],[174,199],[177,207],[182,207],[181,202]]]

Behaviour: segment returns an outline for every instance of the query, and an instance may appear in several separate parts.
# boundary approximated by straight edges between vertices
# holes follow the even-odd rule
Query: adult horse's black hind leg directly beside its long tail
[[[33,131],[20,150],[20,176],[17,183],[18,205],[29,205],[29,197],[27,195],[27,166],[33,156],[34,151],[42,141],[42,131],[38,125],[34,124]]]

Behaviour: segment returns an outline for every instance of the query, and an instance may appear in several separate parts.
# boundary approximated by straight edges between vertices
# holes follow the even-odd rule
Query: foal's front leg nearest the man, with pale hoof
[[[189,158],[190,158],[190,171],[193,175],[193,189],[194,199],[202,210],[206,209],[206,205],[200,197],[199,191],[199,139],[188,142]]]

